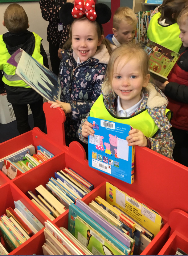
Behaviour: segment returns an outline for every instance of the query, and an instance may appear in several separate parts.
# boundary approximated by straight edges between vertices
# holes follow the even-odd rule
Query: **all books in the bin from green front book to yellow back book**
[[[68,231],[94,255],[141,254],[161,227],[160,215],[108,182],[106,200],[69,206]]]

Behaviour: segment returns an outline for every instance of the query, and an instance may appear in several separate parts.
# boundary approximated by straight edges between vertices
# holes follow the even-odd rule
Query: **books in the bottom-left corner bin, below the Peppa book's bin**
[[[44,227],[20,200],[14,201],[14,205],[14,210],[9,207],[0,218],[2,238],[9,253]],[[1,244],[0,250],[5,253],[2,255],[7,254]]]

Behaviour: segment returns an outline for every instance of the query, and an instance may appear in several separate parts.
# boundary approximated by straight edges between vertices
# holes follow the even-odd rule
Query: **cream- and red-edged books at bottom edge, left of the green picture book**
[[[82,243],[75,239],[65,228],[60,232],[49,221],[45,222],[43,245],[44,255],[92,255]]]

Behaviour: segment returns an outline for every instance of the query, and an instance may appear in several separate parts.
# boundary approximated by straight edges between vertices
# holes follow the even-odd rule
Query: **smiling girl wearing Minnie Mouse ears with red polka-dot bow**
[[[66,145],[79,141],[78,128],[101,94],[101,85],[112,51],[104,38],[102,24],[111,18],[110,8],[93,0],[64,3],[59,11],[64,25],[70,25],[69,39],[64,45],[59,69],[61,101],[49,102],[67,114]],[[84,144],[84,147],[86,144]],[[86,147],[87,148],[87,145]]]

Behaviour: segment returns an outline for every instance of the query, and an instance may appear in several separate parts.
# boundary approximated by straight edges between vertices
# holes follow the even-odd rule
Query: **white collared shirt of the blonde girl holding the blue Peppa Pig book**
[[[117,116],[119,117],[128,117],[128,116],[131,116],[136,110],[137,108],[140,106],[141,102],[143,101],[144,99],[144,93],[141,92],[141,100],[135,104],[134,106],[124,110],[121,106],[121,98],[118,96],[117,98],[117,109],[116,109],[116,114]]]

